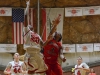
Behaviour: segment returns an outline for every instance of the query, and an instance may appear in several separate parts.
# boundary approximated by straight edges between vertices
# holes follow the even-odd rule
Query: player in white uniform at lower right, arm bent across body
[[[81,57],[78,57],[77,65],[75,65],[75,75],[86,75],[86,72],[89,71],[89,66],[86,63],[82,62]]]

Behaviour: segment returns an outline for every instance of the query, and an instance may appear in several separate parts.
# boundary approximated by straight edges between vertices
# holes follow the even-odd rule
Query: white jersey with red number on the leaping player
[[[40,47],[40,40],[41,37],[37,33],[31,31],[28,26],[24,27],[24,47]]]

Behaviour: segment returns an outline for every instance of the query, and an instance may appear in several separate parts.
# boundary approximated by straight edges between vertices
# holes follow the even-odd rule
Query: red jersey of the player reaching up
[[[54,39],[49,41],[46,46],[44,46],[44,60],[48,64],[55,64],[58,62],[58,56],[60,54],[61,44],[56,42]]]

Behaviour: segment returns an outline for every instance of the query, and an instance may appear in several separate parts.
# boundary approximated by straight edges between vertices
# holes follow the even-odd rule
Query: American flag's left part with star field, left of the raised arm
[[[24,9],[12,9],[13,43],[23,44]]]

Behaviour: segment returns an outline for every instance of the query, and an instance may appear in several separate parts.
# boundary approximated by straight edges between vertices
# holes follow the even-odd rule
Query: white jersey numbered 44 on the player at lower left
[[[20,70],[22,70],[23,62],[19,61],[18,64],[15,64],[14,61],[11,61],[9,62],[9,64],[11,65],[11,75],[22,75],[22,73],[20,73]]]

